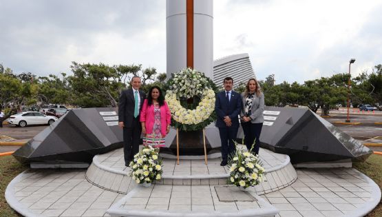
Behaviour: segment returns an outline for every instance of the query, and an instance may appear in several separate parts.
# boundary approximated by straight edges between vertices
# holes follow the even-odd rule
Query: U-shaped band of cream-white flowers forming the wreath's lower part
[[[178,101],[176,92],[167,91],[166,101],[175,121],[183,124],[198,124],[209,118],[215,110],[215,92],[211,89],[202,91],[202,99],[195,110],[187,110]]]

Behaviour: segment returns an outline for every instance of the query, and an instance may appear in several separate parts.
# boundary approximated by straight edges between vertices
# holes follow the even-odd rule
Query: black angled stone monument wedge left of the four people
[[[22,163],[91,163],[96,154],[123,147],[118,109],[70,110],[46,127],[13,156]]]

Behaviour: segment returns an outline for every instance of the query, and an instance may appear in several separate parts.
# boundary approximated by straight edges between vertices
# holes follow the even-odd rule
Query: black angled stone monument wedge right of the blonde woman
[[[266,107],[260,142],[266,149],[288,154],[292,163],[364,161],[372,154],[368,147],[303,108]]]

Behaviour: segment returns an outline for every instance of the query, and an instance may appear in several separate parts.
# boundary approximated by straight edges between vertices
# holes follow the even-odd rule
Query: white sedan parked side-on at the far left
[[[19,125],[20,127],[25,127],[26,125],[37,125],[37,124],[48,124],[51,125],[58,118],[55,116],[46,116],[40,112],[21,112],[18,114],[11,115],[8,118],[8,123],[14,125]]]

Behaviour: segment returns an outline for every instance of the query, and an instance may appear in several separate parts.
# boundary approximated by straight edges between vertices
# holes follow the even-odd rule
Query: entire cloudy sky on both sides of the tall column
[[[166,70],[166,1],[0,0],[0,63],[70,73],[77,63]],[[258,79],[303,83],[382,63],[381,0],[215,0],[214,59],[248,53]]]

